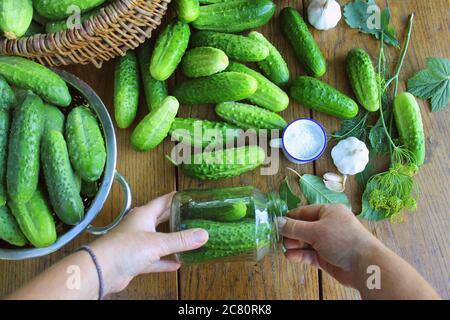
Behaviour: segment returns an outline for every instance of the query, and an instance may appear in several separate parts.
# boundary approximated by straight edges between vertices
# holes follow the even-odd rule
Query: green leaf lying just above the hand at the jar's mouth
[[[320,177],[304,174],[300,178],[300,189],[309,204],[342,203],[349,208],[352,207],[344,193],[327,189]]]

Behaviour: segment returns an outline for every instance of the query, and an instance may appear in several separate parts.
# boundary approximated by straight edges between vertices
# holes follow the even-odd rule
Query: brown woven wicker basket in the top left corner
[[[101,68],[150,38],[171,0],[116,0],[80,28],[0,40],[0,55],[35,59],[48,66],[92,63]]]

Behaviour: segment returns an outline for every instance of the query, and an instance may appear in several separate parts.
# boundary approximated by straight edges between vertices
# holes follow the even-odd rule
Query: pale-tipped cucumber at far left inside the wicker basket
[[[33,19],[31,0],[0,0],[0,29],[7,39],[23,36]]]

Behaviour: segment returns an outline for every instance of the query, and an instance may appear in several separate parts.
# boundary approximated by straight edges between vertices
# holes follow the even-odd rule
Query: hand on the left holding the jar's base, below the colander
[[[123,290],[142,273],[176,271],[178,262],[162,258],[197,249],[208,241],[203,229],[156,232],[156,227],[169,218],[172,196],[133,209],[119,226],[91,244],[104,273],[106,293]]]

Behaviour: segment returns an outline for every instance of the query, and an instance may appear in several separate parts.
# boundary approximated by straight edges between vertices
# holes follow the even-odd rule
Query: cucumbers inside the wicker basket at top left
[[[114,0],[0,0],[1,36],[7,39],[77,27]],[[79,19],[73,19],[81,14]]]

